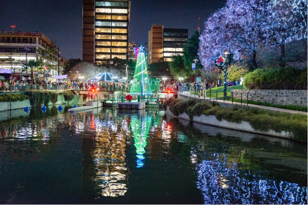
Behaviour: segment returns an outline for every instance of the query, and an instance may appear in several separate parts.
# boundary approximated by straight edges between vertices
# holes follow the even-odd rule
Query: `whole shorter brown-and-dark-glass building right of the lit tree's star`
[[[170,29],[152,25],[148,32],[147,62],[171,61],[173,55],[181,55],[188,40],[188,29]]]

